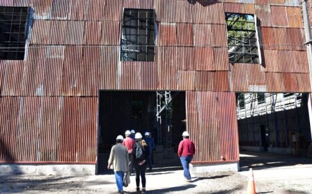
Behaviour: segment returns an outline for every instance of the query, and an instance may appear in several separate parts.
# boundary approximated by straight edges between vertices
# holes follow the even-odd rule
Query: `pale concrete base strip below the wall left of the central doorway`
[[[0,175],[94,175],[95,164],[1,164]]]

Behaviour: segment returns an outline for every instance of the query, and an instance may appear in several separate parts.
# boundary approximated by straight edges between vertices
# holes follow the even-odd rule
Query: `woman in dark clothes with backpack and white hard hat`
[[[146,191],[145,171],[148,163],[150,149],[148,144],[142,139],[141,133],[135,134],[135,144],[133,145],[133,159],[135,164],[135,182],[137,183],[137,191],[140,191],[140,175],[142,181],[142,193]]]

